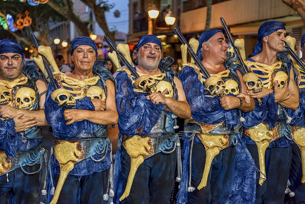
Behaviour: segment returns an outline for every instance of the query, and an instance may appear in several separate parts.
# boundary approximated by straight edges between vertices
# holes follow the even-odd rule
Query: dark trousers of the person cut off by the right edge
[[[286,194],[286,198],[292,203],[305,203],[305,184],[301,182],[303,177],[302,162],[301,162],[301,152],[297,144],[292,147],[292,162],[289,174],[289,181],[291,186],[290,190],[295,192],[295,196],[290,197]],[[287,196],[288,195],[288,196]]]

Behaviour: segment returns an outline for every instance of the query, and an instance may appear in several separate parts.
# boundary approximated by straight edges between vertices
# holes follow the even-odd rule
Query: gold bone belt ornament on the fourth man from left
[[[201,181],[197,186],[198,190],[206,187],[212,161],[221,149],[229,146],[229,136],[227,134],[197,134],[206,149],[206,163],[202,174]]]

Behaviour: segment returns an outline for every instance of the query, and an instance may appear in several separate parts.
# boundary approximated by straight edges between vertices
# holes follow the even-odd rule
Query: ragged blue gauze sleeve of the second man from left
[[[51,99],[51,94],[54,91],[52,84],[49,84],[49,88],[45,99],[45,116],[48,124],[52,127],[55,137],[68,139],[75,137],[81,131],[92,134],[97,130],[97,124],[88,120],[82,120],[74,122],[70,125],[66,125],[66,120],[63,116],[63,108],[58,106],[58,103]],[[76,100],[76,106],[68,107],[68,109],[83,109],[83,110],[95,110],[94,105],[88,97]]]

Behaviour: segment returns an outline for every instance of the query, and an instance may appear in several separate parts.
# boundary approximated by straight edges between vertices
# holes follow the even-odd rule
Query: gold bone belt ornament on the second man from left
[[[59,162],[60,172],[55,193],[50,204],[56,204],[63,183],[69,172],[74,168],[74,163],[84,159],[84,149],[79,141],[55,140],[54,156]]]

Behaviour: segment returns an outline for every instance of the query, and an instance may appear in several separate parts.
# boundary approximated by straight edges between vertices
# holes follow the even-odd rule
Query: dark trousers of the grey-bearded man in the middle
[[[170,154],[160,152],[138,167],[135,173],[130,194],[123,203],[170,203],[170,196],[174,185],[174,174],[177,163],[176,150]],[[124,147],[121,153],[121,175],[123,191],[127,184],[130,170],[130,156]]]

